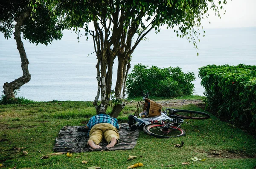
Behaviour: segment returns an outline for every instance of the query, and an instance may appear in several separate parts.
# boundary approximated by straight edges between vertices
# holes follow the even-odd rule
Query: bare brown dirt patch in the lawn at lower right
[[[207,158],[256,158],[255,155],[247,155],[244,152],[234,152],[228,150],[218,150],[218,151],[200,151],[201,153],[207,153]]]

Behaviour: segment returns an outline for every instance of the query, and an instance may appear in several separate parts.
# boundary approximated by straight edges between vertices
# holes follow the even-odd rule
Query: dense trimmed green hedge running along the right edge
[[[208,65],[199,77],[209,109],[256,126],[256,66]]]

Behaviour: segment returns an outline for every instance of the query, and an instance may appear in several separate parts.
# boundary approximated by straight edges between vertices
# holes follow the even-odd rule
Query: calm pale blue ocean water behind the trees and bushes
[[[196,75],[195,95],[203,95],[204,88],[198,78],[198,68],[209,64],[256,65],[256,27],[206,29],[205,37],[199,37],[199,50],[186,39],[178,38],[172,30],[151,32],[149,40],[142,41],[132,57],[131,65],[180,67],[183,72]],[[18,95],[35,101],[93,100],[96,96],[96,56],[93,42],[75,33],[65,31],[62,40],[52,45],[30,44],[23,40],[29,59],[31,80],[23,85]],[[196,56],[196,53],[199,56]],[[91,54],[93,53],[93,54]],[[89,55],[88,55],[89,54]],[[15,40],[6,40],[0,34],[0,90],[3,83],[22,76],[21,61]],[[114,65],[116,70],[116,65]],[[131,72],[131,71],[130,71]],[[113,74],[113,86],[116,72]]]

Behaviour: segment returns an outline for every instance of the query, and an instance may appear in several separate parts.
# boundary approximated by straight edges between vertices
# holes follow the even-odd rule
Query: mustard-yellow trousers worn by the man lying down
[[[111,139],[115,137],[117,142],[119,139],[119,133],[115,126],[110,123],[99,123],[92,127],[89,133],[89,140],[92,140],[95,144],[99,145],[103,141],[103,138],[110,143]],[[89,141],[88,140],[88,141]]]

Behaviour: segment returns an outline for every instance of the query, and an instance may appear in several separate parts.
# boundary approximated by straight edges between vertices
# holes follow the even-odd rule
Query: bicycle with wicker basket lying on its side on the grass
[[[144,95],[143,112],[147,111],[145,118],[138,118],[138,114],[133,116],[134,121],[142,128],[147,135],[158,138],[180,137],[185,135],[185,130],[180,126],[184,122],[183,119],[204,120],[210,116],[207,113],[194,110],[181,110],[167,108],[162,111],[162,106],[154,100],[148,99],[148,93]],[[137,106],[138,111],[138,106]],[[131,117],[129,117],[131,124]],[[148,124],[146,124],[148,123]],[[130,125],[131,126],[131,125]]]

